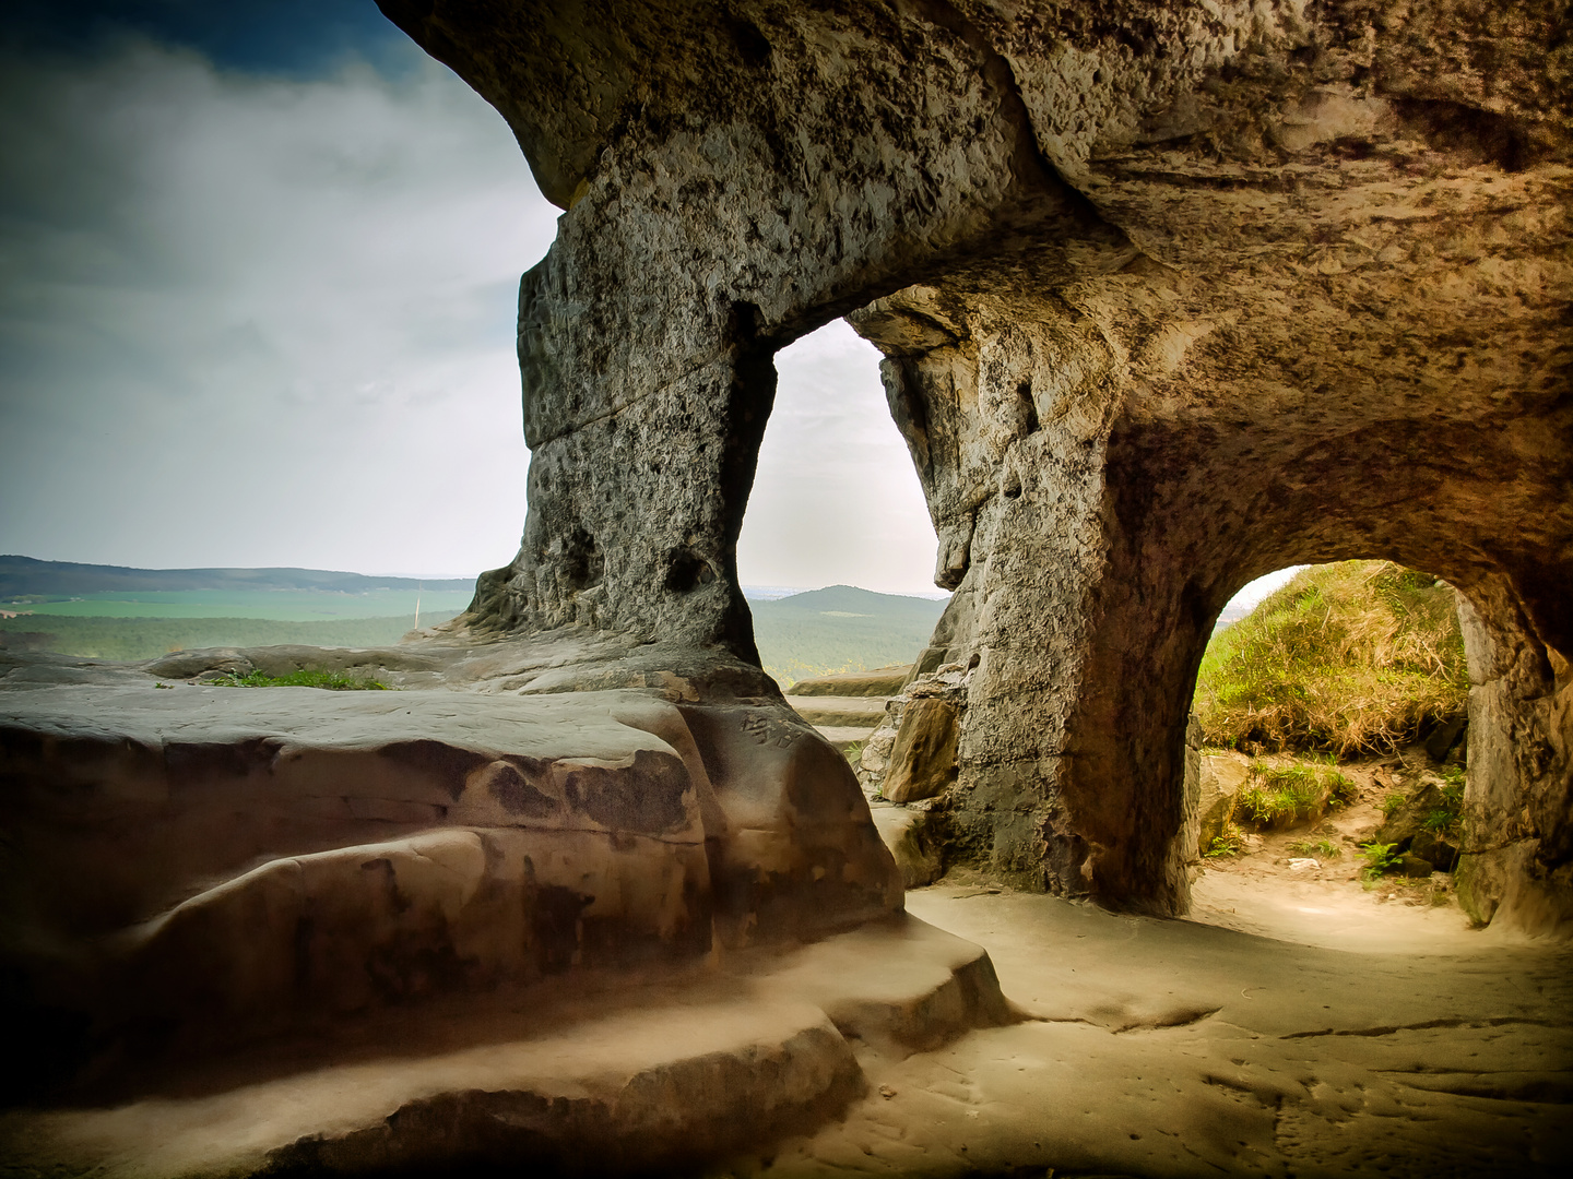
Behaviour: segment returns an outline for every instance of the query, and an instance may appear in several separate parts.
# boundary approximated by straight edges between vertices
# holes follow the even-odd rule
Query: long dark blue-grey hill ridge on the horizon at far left
[[[138,590],[329,590],[360,594],[371,590],[415,590],[422,585],[426,590],[473,590],[475,578],[420,582],[414,577],[367,577],[327,569],[132,569],[121,564],[0,556],[0,601]]]

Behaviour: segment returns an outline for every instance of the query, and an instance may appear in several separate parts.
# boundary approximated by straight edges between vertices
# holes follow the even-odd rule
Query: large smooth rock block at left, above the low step
[[[401,690],[0,663],[0,957],[33,1033],[13,1058],[24,1091],[901,907],[851,769],[757,670],[574,641],[354,659]]]

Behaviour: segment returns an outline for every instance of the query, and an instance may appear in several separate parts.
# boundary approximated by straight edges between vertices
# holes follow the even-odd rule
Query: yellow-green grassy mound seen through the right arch
[[[1208,745],[1381,753],[1463,711],[1450,586],[1391,561],[1301,571],[1218,632],[1197,678]]]

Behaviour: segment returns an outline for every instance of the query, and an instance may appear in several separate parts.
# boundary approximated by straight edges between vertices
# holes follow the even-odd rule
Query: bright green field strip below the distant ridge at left
[[[456,615],[470,604],[473,588],[425,590],[428,613]],[[322,623],[343,618],[398,618],[415,621],[415,590],[107,590],[69,599],[17,602],[16,610],[68,618],[271,618],[280,623]],[[406,627],[407,630],[409,627]]]

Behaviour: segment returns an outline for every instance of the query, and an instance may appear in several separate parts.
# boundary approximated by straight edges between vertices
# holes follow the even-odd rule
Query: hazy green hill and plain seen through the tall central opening
[[[909,663],[928,646],[949,601],[831,585],[750,602],[760,662],[777,681]]]

